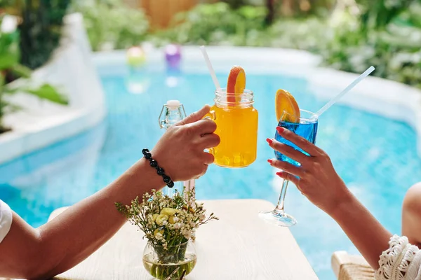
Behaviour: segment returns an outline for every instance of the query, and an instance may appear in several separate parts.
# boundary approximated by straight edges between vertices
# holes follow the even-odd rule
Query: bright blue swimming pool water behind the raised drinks
[[[158,116],[167,99],[180,99],[187,113],[213,103],[213,84],[206,74],[113,68],[116,74],[101,75],[109,110],[104,123],[0,166],[0,199],[31,225],[45,223],[54,209],[100,190],[138,160],[142,148],[152,147],[163,133]],[[255,92],[260,114],[258,158],[246,169],[211,166],[196,183],[199,199],[258,198],[276,203],[280,179],[267,164],[274,152],[265,141],[274,136],[277,125],[274,94],[285,88],[309,111],[326,102],[312,94],[303,78],[249,75],[247,84]],[[400,232],[406,190],[421,180],[415,141],[415,131],[405,123],[347,106],[333,106],[319,120],[317,145],[328,152],[352,192],[394,233]],[[298,225],[291,230],[320,279],[334,279],[330,255],[356,249],[296,188],[288,189],[286,211],[297,218]]]

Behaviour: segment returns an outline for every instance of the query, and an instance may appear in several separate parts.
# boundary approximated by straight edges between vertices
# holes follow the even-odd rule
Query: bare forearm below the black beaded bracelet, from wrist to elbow
[[[65,272],[96,251],[111,238],[126,218],[115,202],[131,200],[152,189],[160,189],[163,181],[149,162],[140,160],[123,176],[100,192],[69,207],[65,212],[39,228],[41,248],[47,260],[44,272],[36,278],[46,279]]]

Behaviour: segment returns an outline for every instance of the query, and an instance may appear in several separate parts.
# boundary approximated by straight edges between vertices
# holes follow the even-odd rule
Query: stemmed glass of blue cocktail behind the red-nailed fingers
[[[289,113],[283,112],[283,115],[281,116],[281,120],[279,121],[278,126],[284,127],[287,130],[290,130],[291,132],[294,132],[295,134],[300,135],[300,137],[303,137],[307,139],[309,142],[311,142],[312,144],[314,144],[314,142],[316,141],[317,125],[318,125],[317,116],[310,111],[300,110],[300,118],[298,120],[298,123],[293,122],[294,120],[298,120],[298,117],[291,116]],[[275,139],[276,141],[279,141],[283,144],[291,146],[295,148],[295,150],[298,150],[308,155],[308,153],[306,153],[305,151],[302,151],[302,149],[296,146],[295,144],[292,144],[290,141],[283,139],[283,137],[281,137],[278,132],[276,132],[275,134]],[[276,160],[282,160],[284,162],[289,162],[292,165],[300,166],[299,162],[296,162],[295,160],[292,160],[286,157],[285,155],[282,155],[278,151],[275,151],[275,156],[276,156]],[[293,175],[289,175],[289,176],[293,176]],[[286,214],[284,210],[284,202],[285,202],[286,190],[288,188],[288,182],[289,182],[288,180],[283,179],[281,194],[279,195],[278,204],[276,205],[275,209],[272,211],[261,212],[259,214],[259,217],[262,218],[262,220],[266,221],[267,223],[271,223],[273,225],[280,225],[283,227],[290,227],[297,223],[297,220],[295,220],[293,216]]]

